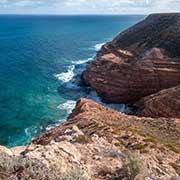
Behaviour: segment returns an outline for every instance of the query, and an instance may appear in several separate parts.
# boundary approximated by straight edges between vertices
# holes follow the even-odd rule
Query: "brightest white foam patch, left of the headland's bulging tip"
[[[68,67],[67,72],[60,73],[60,74],[55,74],[54,76],[56,78],[58,78],[60,81],[62,81],[64,83],[67,83],[70,80],[72,80],[72,78],[74,77],[74,69],[75,69],[75,66],[71,65],[71,66]]]

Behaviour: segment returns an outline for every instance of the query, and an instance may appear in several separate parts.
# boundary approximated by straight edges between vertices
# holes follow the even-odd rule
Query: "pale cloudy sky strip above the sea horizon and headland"
[[[149,14],[180,11],[180,0],[0,0],[0,14]]]

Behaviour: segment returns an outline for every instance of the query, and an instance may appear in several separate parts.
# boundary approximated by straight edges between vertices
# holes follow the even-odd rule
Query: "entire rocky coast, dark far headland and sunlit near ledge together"
[[[106,102],[80,99],[24,147],[0,147],[0,179],[179,180],[180,14],[154,14],[105,44],[83,73]],[[136,115],[136,116],[135,116]]]

